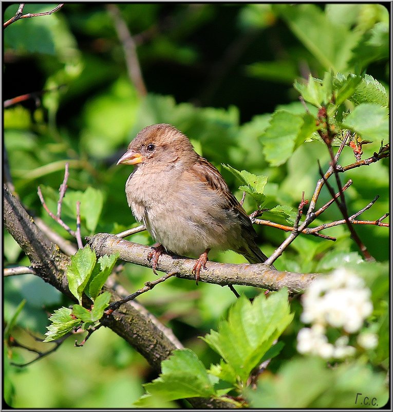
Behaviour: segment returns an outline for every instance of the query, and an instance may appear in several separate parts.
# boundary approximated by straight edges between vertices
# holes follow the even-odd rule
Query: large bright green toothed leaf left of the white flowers
[[[220,322],[218,332],[212,330],[202,339],[221,355],[245,385],[251,370],[292,318],[286,288],[268,299],[259,295],[253,303],[243,295],[230,309],[228,320]]]

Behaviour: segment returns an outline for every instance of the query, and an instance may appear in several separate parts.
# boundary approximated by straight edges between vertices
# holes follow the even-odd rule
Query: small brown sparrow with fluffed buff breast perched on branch
[[[147,256],[154,273],[164,250],[199,256],[192,270],[197,284],[212,248],[234,250],[250,263],[266,261],[248,214],[220,172],[171,124],[142,129],[117,164],[135,166],[125,193],[135,218],[159,242]]]

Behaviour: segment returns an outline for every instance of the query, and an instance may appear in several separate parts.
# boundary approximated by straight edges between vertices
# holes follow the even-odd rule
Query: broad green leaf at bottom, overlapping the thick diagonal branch
[[[210,398],[215,394],[209,375],[198,356],[190,349],[175,350],[161,364],[159,378],[144,386],[148,395],[166,401],[182,398]],[[139,401],[135,403],[139,406]]]

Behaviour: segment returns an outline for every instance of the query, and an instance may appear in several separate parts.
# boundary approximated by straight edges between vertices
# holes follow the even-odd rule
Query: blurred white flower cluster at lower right
[[[301,320],[312,324],[297,335],[297,350],[300,353],[319,355],[325,359],[342,359],[355,353],[348,346],[347,335],[340,336],[334,344],[328,342],[326,328],[343,328],[354,333],[363,326],[364,319],[372,313],[371,292],[363,279],[341,268],[330,276],[315,279],[303,295]],[[377,346],[378,338],[372,333],[358,336],[358,344],[366,349]]]

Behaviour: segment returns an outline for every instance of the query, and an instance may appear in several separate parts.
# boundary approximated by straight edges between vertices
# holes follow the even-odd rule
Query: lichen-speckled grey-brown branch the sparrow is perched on
[[[147,254],[151,247],[139,243],[119,239],[115,235],[99,233],[92,237],[86,237],[87,243],[95,250],[98,256],[118,252],[120,259],[145,267],[152,267],[147,260]],[[195,276],[191,273],[195,265],[194,259],[175,257],[162,254],[158,260],[158,270],[166,273],[178,271],[178,278],[195,282]],[[307,289],[308,285],[317,274],[302,274],[291,272],[273,271],[263,263],[258,264],[230,264],[207,262],[207,270],[201,270],[202,282],[219,285],[240,284],[256,286],[257,288],[276,291],[287,286],[289,291],[300,293]]]

